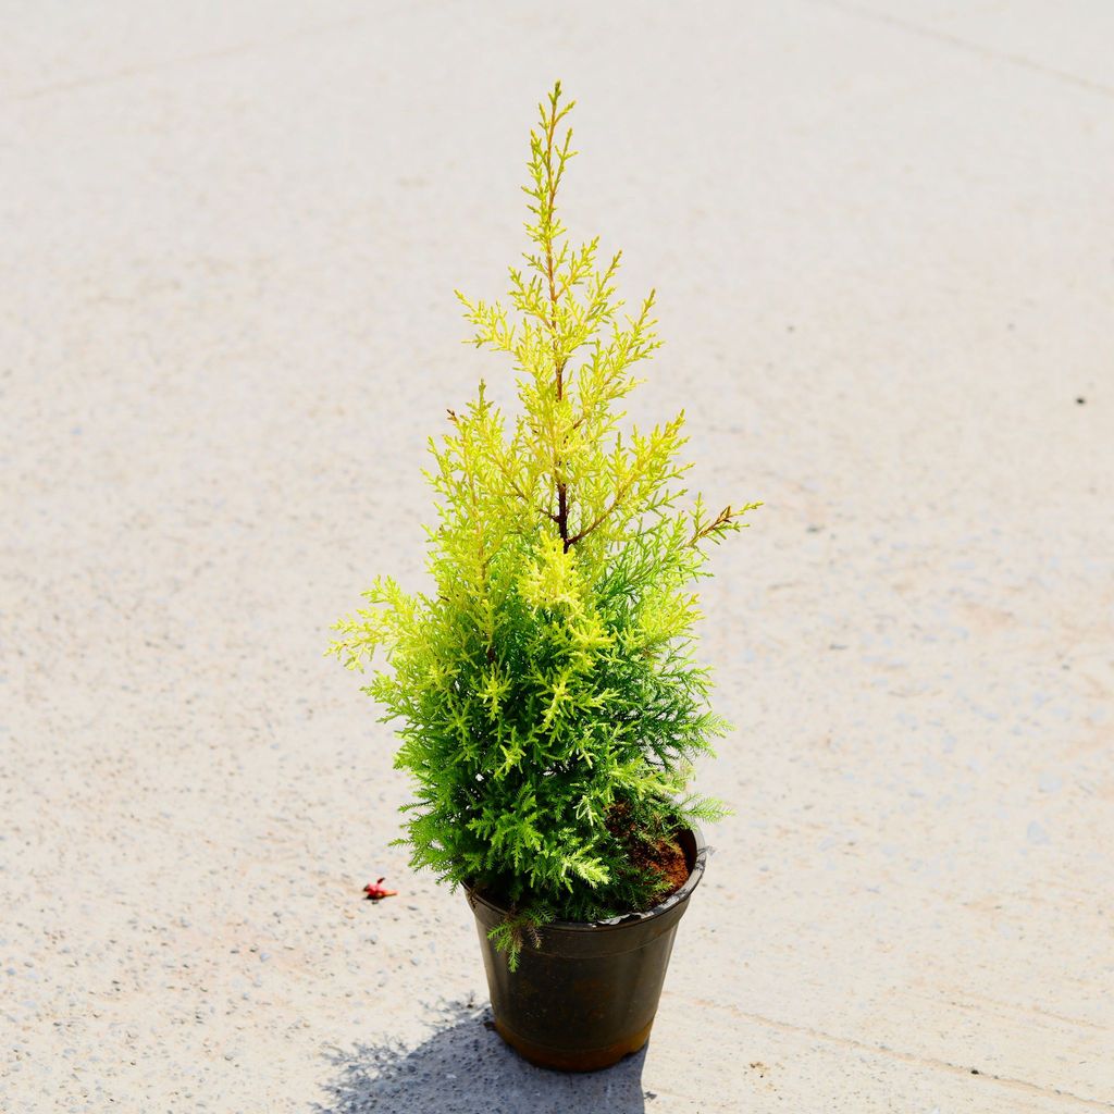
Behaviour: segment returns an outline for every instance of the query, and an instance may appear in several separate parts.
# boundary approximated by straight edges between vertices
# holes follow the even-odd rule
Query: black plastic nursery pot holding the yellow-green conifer
[[[648,1039],[677,921],[700,885],[707,847],[700,829],[677,833],[688,879],[646,912],[596,924],[558,920],[522,946],[518,969],[488,932],[507,910],[468,890],[476,915],[499,1035],[526,1059],[565,1072],[595,1072]]]

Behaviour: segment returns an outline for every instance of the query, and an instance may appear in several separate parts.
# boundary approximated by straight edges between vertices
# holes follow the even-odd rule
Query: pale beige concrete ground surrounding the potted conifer
[[[1114,1111],[1114,6],[0,4],[0,1110]],[[526,131],[655,284],[732,819],[527,1067],[321,651],[421,583]],[[360,900],[385,874],[401,891]]]

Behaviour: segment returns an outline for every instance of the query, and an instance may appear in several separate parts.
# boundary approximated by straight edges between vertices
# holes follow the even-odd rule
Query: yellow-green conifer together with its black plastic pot
[[[496,1026],[527,1058],[593,1069],[649,1035],[677,920],[704,869],[692,760],[725,731],[692,657],[707,547],[758,507],[685,507],[683,412],[624,429],[659,346],[654,294],[574,247],[557,195],[575,152],[560,84],[530,135],[530,250],[510,306],[458,295],[508,354],[520,410],[478,397],[430,440],[434,587],[380,577],[331,651],[398,723],[414,868],[465,887]],[[564,133],[564,134],[561,134]]]

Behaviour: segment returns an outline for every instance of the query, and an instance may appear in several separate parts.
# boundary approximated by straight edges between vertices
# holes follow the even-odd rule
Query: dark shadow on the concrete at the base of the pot
[[[315,1114],[644,1114],[646,1049],[588,1074],[535,1067],[508,1048],[491,1026],[491,1010],[446,1009],[443,1027],[417,1048],[358,1044],[334,1048],[325,1084],[329,1101]]]

